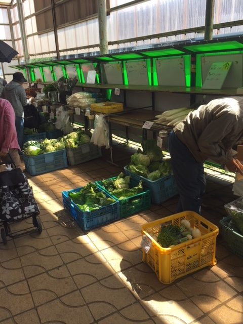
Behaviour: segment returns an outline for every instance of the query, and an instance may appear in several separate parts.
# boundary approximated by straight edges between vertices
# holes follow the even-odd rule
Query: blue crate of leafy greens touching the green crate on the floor
[[[71,214],[75,222],[85,231],[90,229],[112,223],[119,219],[118,214],[118,201],[113,204],[103,206],[100,209],[91,212],[81,211],[76,204],[69,198],[69,192],[77,192],[83,187],[72,189],[62,192],[63,205],[66,210]],[[101,190],[100,188],[98,188]],[[111,197],[109,194],[105,193],[106,196]]]

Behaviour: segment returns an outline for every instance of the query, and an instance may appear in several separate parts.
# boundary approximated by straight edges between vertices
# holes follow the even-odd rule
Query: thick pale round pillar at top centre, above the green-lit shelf
[[[108,53],[106,0],[98,0],[100,54]]]

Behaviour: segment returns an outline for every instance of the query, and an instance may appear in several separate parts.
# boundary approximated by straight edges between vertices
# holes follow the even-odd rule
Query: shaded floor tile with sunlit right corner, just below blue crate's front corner
[[[57,244],[56,248],[64,263],[98,252],[98,249],[87,235],[79,235],[72,240]]]

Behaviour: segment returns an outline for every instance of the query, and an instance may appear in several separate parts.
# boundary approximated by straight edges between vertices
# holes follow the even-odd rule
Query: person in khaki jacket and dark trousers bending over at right
[[[206,160],[243,175],[243,165],[232,150],[242,137],[243,97],[214,99],[189,112],[173,129],[169,150],[179,193],[178,213],[190,210],[200,214]]]

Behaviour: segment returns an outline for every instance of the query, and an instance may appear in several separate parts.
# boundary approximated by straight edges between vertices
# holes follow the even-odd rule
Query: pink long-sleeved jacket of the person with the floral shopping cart
[[[0,98],[0,160],[7,163],[10,153],[16,168],[22,170],[19,150],[14,108],[8,100]]]

